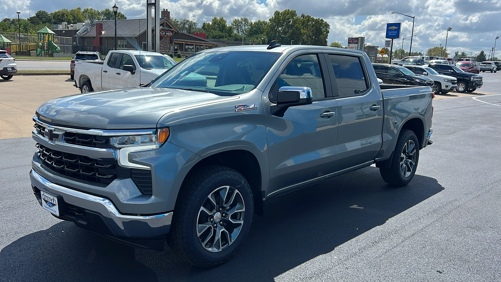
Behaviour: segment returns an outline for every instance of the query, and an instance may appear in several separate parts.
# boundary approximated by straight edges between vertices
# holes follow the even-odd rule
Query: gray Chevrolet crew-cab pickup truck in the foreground
[[[44,103],[30,178],[59,219],[209,267],[268,199],[372,164],[409,183],[432,114],[430,87],[379,85],[363,52],[204,50],[141,87]]]

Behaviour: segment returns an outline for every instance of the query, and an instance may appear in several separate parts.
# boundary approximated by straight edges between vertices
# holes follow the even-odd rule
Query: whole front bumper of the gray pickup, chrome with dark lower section
[[[30,179],[40,204],[40,191],[58,197],[60,216],[56,217],[59,219],[72,221],[79,227],[127,245],[163,249],[165,234],[169,232],[172,222],[172,212],[147,216],[125,215],[108,199],[52,183],[34,170],[30,172]]]

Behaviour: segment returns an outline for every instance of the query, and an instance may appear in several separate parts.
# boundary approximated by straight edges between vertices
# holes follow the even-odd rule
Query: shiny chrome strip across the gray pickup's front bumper
[[[61,195],[66,203],[98,212],[104,217],[111,219],[122,230],[124,230],[124,222],[129,221],[145,222],[153,228],[167,226],[172,222],[172,212],[150,216],[123,215],[118,212],[113,203],[108,199],[54,184],[40,176],[34,170],[30,172],[30,175],[40,184],[39,186],[35,185],[37,188],[45,190],[48,193],[52,192]]]

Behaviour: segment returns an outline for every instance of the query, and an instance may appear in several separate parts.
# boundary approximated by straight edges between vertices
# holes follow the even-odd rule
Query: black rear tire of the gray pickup
[[[407,157],[403,158],[402,151],[404,149],[404,146],[408,145],[409,142],[414,144],[413,147],[414,149],[413,155],[415,154],[415,159],[413,161],[414,166],[412,167],[412,170],[408,175],[407,172],[410,165],[409,167],[406,166],[405,169],[406,176],[404,176],[403,172],[401,171],[402,159],[404,162],[410,159],[407,159]],[[389,169],[380,168],[379,173],[381,174],[381,177],[383,178],[384,182],[388,183],[389,185],[398,187],[405,186],[414,177],[418,162],[419,162],[419,142],[417,140],[416,134],[412,130],[402,129],[402,131],[400,132],[400,136],[398,136],[397,145],[395,146],[391,167]]]

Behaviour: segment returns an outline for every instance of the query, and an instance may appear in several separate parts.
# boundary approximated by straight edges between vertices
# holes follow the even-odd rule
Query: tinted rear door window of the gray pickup
[[[359,57],[329,55],[339,96],[360,94],[369,88]]]

